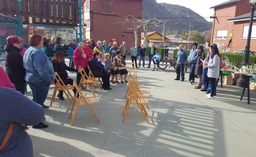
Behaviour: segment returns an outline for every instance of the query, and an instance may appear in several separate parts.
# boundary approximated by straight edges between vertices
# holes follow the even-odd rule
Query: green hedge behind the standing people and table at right
[[[174,57],[177,56],[177,52],[179,50],[174,50]],[[190,51],[189,50],[185,50],[187,52],[187,55],[190,54]],[[205,55],[207,55],[207,52],[205,52]],[[222,57],[226,56],[229,58],[229,62],[233,62],[233,64],[235,64],[237,67],[240,67],[240,64],[242,63],[242,60],[243,60],[243,57],[244,55],[243,54],[239,54],[239,53],[220,53],[220,55]],[[256,63],[256,55],[252,55],[250,54],[250,57],[249,57],[249,64],[250,65],[254,65]]]

